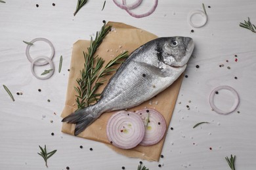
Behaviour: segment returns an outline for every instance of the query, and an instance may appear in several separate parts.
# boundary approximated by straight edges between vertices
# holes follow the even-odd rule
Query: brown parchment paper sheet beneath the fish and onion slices
[[[157,38],[156,35],[153,35],[152,33],[132,27],[130,25],[117,22],[108,22],[108,25],[112,25],[112,31],[108,33],[96,52],[96,55],[106,60],[105,63],[108,63],[110,59],[113,59],[124,50],[128,50],[129,53],[131,53],[142,44]],[[68,89],[66,93],[66,103],[64,110],[62,111],[62,118],[68,116],[77,109],[75,104],[76,92],[74,90],[74,86],[77,86],[77,83],[75,80],[80,77],[79,71],[83,69],[84,63],[83,52],[87,52],[87,47],[89,45],[90,41],[79,40],[75,42],[73,46],[72,59],[70,63],[70,75],[68,78]],[[106,78],[110,78],[110,76]],[[105,82],[104,86],[106,86],[106,83],[107,82]],[[179,77],[178,80],[176,80],[169,88],[159,93],[156,97],[129,110],[134,111],[144,109],[144,107],[156,109],[163,114],[168,127],[169,122],[171,121],[177,96],[179,94],[181,83],[182,76]],[[103,89],[104,87],[101,87],[98,92],[102,92]],[[102,114],[95,122],[93,122],[93,124],[91,124],[91,126],[87,127],[87,129],[85,129],[85,131],[78,136],[85,139],[106,143],[108,146],[110,146],[110,148],[125,156],[141,158],[148,161],[158,161],[163,148],[164,139],[153,146],[137,146],[129,150],[116,148],[110,144],[106,137],[106,124],[108,122],[108,118],[110,118],[112,114],[113,112],[106,112]],[[74,124],[64,123],[62,125],[62,132],[74,135],[74,127]]]

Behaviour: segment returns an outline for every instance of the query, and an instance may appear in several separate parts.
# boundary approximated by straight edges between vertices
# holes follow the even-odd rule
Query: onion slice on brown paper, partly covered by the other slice
[[[146,132],[140,145],[149,146],[156,144],[165,135],[166,123],[160,112],[154,109],[142,109],[136,112],[146,126]]]

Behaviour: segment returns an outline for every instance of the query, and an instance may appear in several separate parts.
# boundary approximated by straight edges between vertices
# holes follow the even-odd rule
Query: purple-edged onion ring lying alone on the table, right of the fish
[[[232,106],[230,109],[226,110],[226,111],[217,108],[216,105],[215,105],[215,103],[214,103],[214,95],[215,95],[215,93],[216,93],[217,91],[223,90],[223,89],[224,89],[224,90],[229,90],[230,92],[232,92],[232,94],[233,94],[234,97],[235,97],[235,98],[234,98],[235,101],[234,101],[233,106]],[[211,91],[211,94],[210,94],[210,96],[209,96],[209,103],[210,103],[210,105],[211,105],[211,108],[212,108],[215,112],[217,112],[217,113],[219,113],[219,114],[229,114],[230,112],[234,112],[234,110],[236,110],[236,108],[238,107],[238,105],[239,105],[239,103],[240,103],[240,100],[239,100],[238,92],[236,92],[236,90],[234,90],[234,88],[231,88],[230,86],[218,86],[217,88],[213,89],[213,91]]]

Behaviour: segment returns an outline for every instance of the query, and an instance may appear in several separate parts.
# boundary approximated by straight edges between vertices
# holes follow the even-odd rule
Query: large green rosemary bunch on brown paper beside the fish
[[[77,98],[75,99],[77,110],[88,107],[91,103],[98,100],[100,93],[95,92],[105,81],[102,80],[102,78],[116,71],[113,66],[122,63],[123,59],[128,57],[128,53],[123,52],[113,60],[110,60],[104,68],[102,68],[104,59],[98,56],[93,57],[96,49],[100,46],[102,40],[108,34],[108,31],[110,31],[110,28],[111,26],[106,27],[104,24],[100,31],[96,32],[95,40],[93,41],[93,38],[91,38],[91,44],[89,48],[87,48],[88,52],[83,52],[85,64],[84,68],[80,71],[81,78],[77,78],[76,80],[78,86],[75,87],[75,91],[77,92]]]

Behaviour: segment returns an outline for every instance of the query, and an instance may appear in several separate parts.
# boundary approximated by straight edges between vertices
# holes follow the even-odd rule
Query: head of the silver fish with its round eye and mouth
[[[194,41],[190,37],[167,37],[161,49],[161,60],[172,67],[186,65],[194,50]]]

